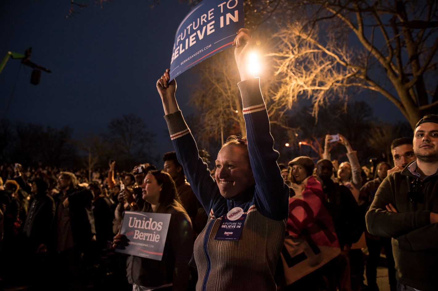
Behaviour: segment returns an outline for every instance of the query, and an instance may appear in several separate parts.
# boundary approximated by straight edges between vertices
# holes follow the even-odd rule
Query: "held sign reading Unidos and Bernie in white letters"
[[[169,221],[170,214],[125,211],[120,233],[126,239],[117,246],[116,252],[160,261]]]

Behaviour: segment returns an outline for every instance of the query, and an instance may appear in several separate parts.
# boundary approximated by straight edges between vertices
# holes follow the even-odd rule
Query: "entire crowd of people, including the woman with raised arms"
[[[278,164],[259,80],[246,69],[252,43],[247,29],[233,43],[247,137],[230,137],[213,170],[199,156],[169,70],[156,84],[175,149],[162,167],[117,173],[110,161],[88,180],[85,171],[2,166],[3,282],[85,290],[98,265],[113,281],[95,290],[378,291],[384,249],[391,291],[438,290],[438,116],[422,118],[413,138],[395,139],[394,166],[378,163],[371,174],[341,134],[326,135],[316,163],[297,156]],[[331,159],[336,143],[348,162]],[[128,210],[171,215],[161,260],[114,253],[127,242],[120,226]],[[235,214],[243,229],[224,238]]]

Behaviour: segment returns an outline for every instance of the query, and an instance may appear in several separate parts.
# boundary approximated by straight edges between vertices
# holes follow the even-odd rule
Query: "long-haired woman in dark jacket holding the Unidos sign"
[[[172,177],[164,171],[151,171],[143,180],[142,196],[145,206],[142,212],[171,214],[162,260],[139,256],[127,259],[128,282],[133,291],[185,291],[189,284],[187,265],[193,251],[191,221],[180,203],[177,187]],[[122,245],[126,237],[114,237],[114,247]]]

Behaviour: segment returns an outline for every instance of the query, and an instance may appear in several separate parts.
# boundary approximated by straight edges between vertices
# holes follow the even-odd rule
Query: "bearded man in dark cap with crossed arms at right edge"
[[[417,159],[380,185],[366,221],[368,231],[392,238],[397,290],[438,290],[438,115],[414,130]]]

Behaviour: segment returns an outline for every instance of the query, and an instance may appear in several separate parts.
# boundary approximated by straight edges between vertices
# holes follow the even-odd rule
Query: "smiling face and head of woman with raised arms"
[[[226,145],[219,151],[215,178],[223,197],[234,197],[255,183],[247,155],[239,145]]]

